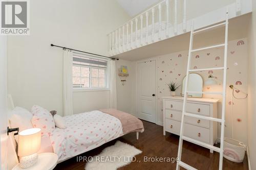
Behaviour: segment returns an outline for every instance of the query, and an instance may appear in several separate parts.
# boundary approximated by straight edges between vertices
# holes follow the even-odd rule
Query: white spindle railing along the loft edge
[[[186,30],[186,0],[182,5],[183,30]],[[173,25],[170,21],[172,16]],[[177,34],[178,0],[174,0],[174,7],[170,6],[170,0],[161,1],[108,34],[110,55],[168,38],[171,25],[174,26],[174,34]]]

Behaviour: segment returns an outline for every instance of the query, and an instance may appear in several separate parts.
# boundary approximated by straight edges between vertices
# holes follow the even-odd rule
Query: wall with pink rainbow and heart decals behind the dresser
[[[238,42],[244,44],[238,44]],[[215,98],[220,99],[218,103],[218,118],[221,118],[221,109],[223,103],[226,105],[225,116],[225,137],[232,137],[232,119],[231,119],[231,105],[229,105],[231,95],[230,84],[238,88],[241,91],[234,92],[237,98],[244,98],[247,92],[247,40],[246,38],[233,40],[228,42],[228,54],[227,54],[227,93],[226,102],[222,101],[222,95],[204,94],[203,98]],[[231,53],[232,52],[232,53]],[[199,58],[196,58],[196,56]],[[167,54],[157,57],[157,110],[158,110],[158,123],[163,124],[163,96],[169,95],[167,83],[176,82],[178,85],[182,84],[182,80],[186,74],[188,51],[182,51],[178,53]],[[216,60],[216,57],[220,57],[220,60]],[[211,48],[208,50],[196,52],[191,57],[191,68],[212,68],[221,67],[224,63],[224,48]],[[223,87],[223,70],[212,70],[213,76],[217,77],[217,85],[203,86],[203,91],[222,91]],[[201,75],[204,82],[208,78],[208,71],[198,71],[197,74]],[[236,82],[242,82],[242,85],[236,85]],[[177,95],[180,95],[182,87],[177,90]],[[233,138],[247,143],[247,134],[241,133],[247,131],[247,99],[237,100],[233,98]],[[238,122],[237,119],[241,119]],[[218,137],[220,138],[221,126],[218,124]]]

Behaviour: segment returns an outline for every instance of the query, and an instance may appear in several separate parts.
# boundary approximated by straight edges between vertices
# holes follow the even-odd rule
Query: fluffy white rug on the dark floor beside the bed
[[[86,164],[86,170],[115,170],[124,165],[130,164],[135,155],[142,153],[134,146],[117,141],[114,145],[105,148],[99,155],[94,156]]]

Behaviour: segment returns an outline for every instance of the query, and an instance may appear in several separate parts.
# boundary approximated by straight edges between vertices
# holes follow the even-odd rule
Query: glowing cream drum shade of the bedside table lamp
[[[37,153],[41,147],[41,129],[31,128],[18,133],[18,156]]]

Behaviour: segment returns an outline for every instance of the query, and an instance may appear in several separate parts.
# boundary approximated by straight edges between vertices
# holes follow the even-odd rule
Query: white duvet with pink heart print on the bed
[[[123,132],[118,118],[99,110],[65,116],[64,119],[67,128],[56,128],[50,136],[53,151],[58,155],[59,162],[95,149],[124,134],[144,131],[140,128]]]

